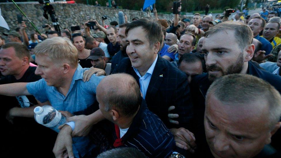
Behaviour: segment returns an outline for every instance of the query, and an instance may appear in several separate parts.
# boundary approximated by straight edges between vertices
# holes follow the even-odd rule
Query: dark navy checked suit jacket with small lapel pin
[[[128,73],[139,83],[139,77],[134,71],[129,58],[124,58],[115,68],[113,73]],[[155,113],[164,124],[169,127],[185,127],[189,129],[193,118],[193,105],[187,76],[168,60],[158,56],[153,70],[147,93],[145,96],[147,107]],[[179,125],[173,125],[168,121],[168,107],[176,108],[170,113],[179,114]]]

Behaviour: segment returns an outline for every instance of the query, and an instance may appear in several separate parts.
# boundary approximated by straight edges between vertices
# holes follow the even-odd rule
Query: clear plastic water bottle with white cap
[[[60,132],[58,127],[66,123],[66,117],[58,112],[53,106],[37,106],[34,109],[35,121],[41,125],[51,128],[56,132]]]

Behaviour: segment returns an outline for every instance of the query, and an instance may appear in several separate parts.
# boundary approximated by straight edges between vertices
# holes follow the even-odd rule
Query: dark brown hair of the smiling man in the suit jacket
[[[147,38],[149,39],[150,46],[156,42],[160,42],[160,45],[163,42],[163,31],[162,25],[159,22],[153,21],[151,18],[142,18],[135,21],[132,21],[126,28],[126,36],[128,36],[129,30],[141,27],[147,33]]]

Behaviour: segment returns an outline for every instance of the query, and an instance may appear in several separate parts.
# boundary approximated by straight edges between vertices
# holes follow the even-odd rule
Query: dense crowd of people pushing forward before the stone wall
[[[281,157],[281,18],[245,13],[3,33],[4,154]],[[35,123],[43,105],[59,133]]]

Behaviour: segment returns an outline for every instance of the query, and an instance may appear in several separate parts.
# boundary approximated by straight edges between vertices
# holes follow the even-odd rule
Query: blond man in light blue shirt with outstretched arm
[[[83,82],[83,71],[86,69],[78,65],[78,52],[70,40],[62,37],[47,39],[35,47],[35,55],[38,64],[35,74],[40,75],[42,79],[32,83],[1,85],[0,94],[34,95],[40,102],[49,100],[50,105],[64,111],[67,118],[94,112],[90,110],[91,105],[96,101],[96,87],[103,77],[93,76],[89,82]],[[83,121],[76,122],[76,130],[77,128],[84,130],[81,127],[82,123]],[[63,128],[67,128],[67,125]],[[75,127],[72,128],[75,131]],[[72,142],[73,155],[69,157],[89,156],[95,147],[87,137],[76,137]],[[60,157],[64,154],[64,151],[60,151],[55,153],[55,156]]]

